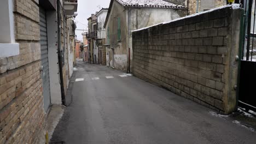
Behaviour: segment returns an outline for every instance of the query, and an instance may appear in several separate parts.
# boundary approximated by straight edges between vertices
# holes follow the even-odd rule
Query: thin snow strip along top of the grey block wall
[[[142,30],[148,29],[148,28],[150,28],[150,27],[154,27],[154,26],[158,26],[158,25],[164,25],[164,24],[166,24],[166,23],[171,23],[171,22],[174,22],[174,21],[179,21],[179,20],[187,19],[187,18],[189,18],[189,17],[194,17],[194,16],[198,16],[198,15],[201,15],[201,14],[210,13],[210,12],[212,12],[212,11],[214,11],[214,10],[223,9],[223,8],[229,8],[229,7],[232,8],[232,9],[240,9],[240,4],[224,5],[224,6],[222,6],[222,7],[214,8],[214,9],[207,10],[207,11],[202,11],[201,13],[196,13],[196,14],[189,15],[189,16],[184,16],[184,17],[181,17],[181,18],[179,18],[179,19],[172,20],[172,21],[161,22],[161,23],[158,23],[158,24],[153,25],[153,26],[144,27],[144,28],[141,28],[141,29],[136,29],[135,31],[132,31],[132,32],[142,31]]]

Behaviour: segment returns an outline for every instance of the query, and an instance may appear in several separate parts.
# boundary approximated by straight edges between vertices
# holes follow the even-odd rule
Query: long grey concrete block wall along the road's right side
[[[133,74],[211,109],[234,111],[240,16],[229,6],[133,32]]]

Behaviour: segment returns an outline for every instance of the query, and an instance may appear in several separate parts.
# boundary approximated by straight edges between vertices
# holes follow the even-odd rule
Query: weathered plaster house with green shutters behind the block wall
[[[162,0],[112,0],[104,23],[107,65],[131,72],[132,31],[185,15],[184,6]]]

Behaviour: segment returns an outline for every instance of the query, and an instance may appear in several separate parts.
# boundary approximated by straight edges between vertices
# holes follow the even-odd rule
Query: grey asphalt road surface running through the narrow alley
[[[77,63],[50,143],[255,143],[241,127],[123,71]]]

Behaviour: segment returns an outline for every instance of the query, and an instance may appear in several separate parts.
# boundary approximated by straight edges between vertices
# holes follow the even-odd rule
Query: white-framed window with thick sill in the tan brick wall
[[[0,19],[0,58],[19,55],[14,36],[13,0],[1,1]]]

